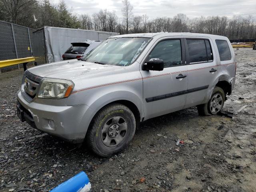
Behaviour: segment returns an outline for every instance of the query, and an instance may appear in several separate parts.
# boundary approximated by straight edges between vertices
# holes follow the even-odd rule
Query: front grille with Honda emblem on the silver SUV
[[[28,72],[28,70],[26,70],[24,73],[22,78],[21,94],[28,102],[32,102],[32,100],[36,97],[36,93],[38,92],[41,81],[42,77]]]

